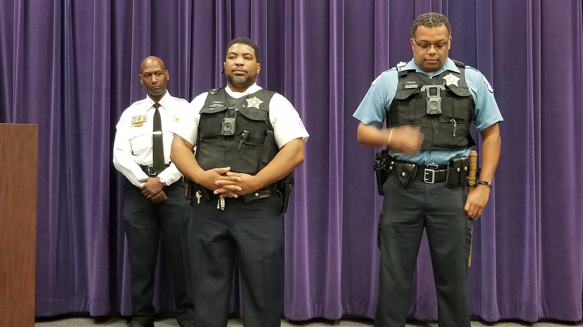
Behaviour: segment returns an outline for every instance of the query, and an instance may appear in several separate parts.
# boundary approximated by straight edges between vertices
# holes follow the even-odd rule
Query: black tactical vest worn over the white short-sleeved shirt
[[[273,94],[262,88],[234,99],[224,88],[209,91],[196,139],[196,161],[202,169],[230,167],[256,175],[275,157],[279,150],[269,121]]]

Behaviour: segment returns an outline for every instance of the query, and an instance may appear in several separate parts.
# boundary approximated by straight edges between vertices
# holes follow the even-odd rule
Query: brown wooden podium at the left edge
[[[0,124],[0,326],[34,326],[38,126]]]

